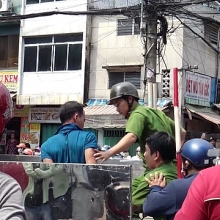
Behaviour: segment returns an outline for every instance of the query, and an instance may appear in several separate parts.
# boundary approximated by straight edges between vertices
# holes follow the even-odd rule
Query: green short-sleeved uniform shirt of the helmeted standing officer
[[[125,132],[137,136],[141,153],[145,152],[146,138],[157,131],[164,131],[175,137],[174,121],[160,110],[137,104],[130,112]]]

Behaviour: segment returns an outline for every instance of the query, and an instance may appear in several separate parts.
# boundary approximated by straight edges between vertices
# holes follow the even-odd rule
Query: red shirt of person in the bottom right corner
[[[199,172],[175,220],[217,220],[220,217],[220,166]],[[193,208],[193,211],[189,210]]]

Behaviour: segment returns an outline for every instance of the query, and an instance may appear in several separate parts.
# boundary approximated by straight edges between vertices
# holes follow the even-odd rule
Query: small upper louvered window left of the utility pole
[[[118,19],[117,35],[136,35],[140,34],[140,28],[134,19]]]

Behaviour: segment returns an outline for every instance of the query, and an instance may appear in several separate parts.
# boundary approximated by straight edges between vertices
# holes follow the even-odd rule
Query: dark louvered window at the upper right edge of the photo
[[[218,30],[219,30],[219,27],[217,25],[205,24],[205,26],[204,26],[205,39],[208,42],[217,45],[218,44]]]

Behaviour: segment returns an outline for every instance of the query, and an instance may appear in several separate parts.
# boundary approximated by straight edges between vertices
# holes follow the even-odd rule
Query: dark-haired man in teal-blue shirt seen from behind
[[[75,101],[60,107],[62,126],[41,147],[41,160],[46,163],[96,164],[97,140],[92,132],[83,131],[85,112]]]

